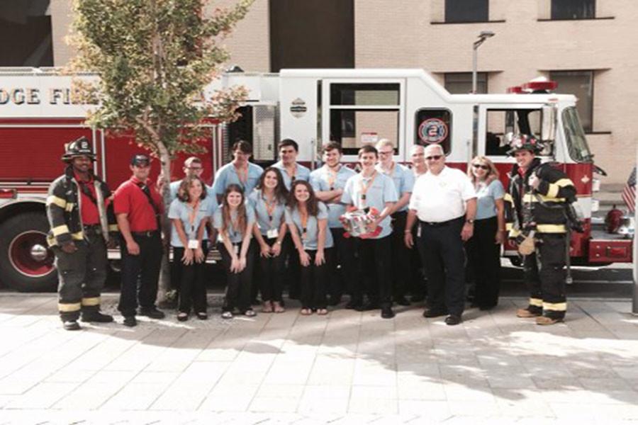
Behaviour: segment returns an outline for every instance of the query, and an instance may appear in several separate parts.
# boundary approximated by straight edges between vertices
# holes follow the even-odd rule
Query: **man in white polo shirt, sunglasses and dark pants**
[[[427,173],[420,176],[410,198],[405,244],[413,246],[417,217],[420,244],[427,270],[427,307],[424,317],[449,314],[445,323],[461,323],[465,305],[463,242],[474,232],[476,193],[467,176],[445,165],[440,145],[425,148]]]

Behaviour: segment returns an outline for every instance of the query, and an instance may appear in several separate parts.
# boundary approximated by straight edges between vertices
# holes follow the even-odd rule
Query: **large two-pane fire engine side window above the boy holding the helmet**
[[[330,84],[330,140],[344,154],[388,139],[398,153],[399,84]]]

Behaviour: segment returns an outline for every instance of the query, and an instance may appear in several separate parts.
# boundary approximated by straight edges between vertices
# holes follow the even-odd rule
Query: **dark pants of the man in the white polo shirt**
[[[465,307],[465,252],[461,239],[464,217],[430,225],[419,222],[427,272],[428,306],[460,316]]]

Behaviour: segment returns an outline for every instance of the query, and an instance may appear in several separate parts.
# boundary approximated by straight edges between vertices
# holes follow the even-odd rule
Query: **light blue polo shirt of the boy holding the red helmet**
[[[376,173],[374,182],[366,192],[366,200],[362,200],[362,183],[370,184],[369,177],[364,179],[363,174],[359,173],[352,176],[346,182],[346,187],[343,190],[341,196],[342,203],[346,205],[354,205],[355,207],[362,209],[364,207],[376,208],[379,212],[386,208],[386,202],[396,202],[398,200],[396,196],[396,188],[392,179],[385,174],[379,172]],[[375,239],[381,239],[392,233],[392,226],[390,224],[391,218],[388,215],[384,220],[381,220],[379,225],[381,226],[381,233]]]

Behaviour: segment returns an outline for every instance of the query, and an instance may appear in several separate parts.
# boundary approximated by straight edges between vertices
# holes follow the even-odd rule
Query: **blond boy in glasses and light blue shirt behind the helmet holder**
[[[414,186],[414,173],[407,166],[393,161],[394,145],[388,139],[381,139],[376,144],[379,150],[379,164],[376,171],[390,177],[394,182],[398,201],[394,204],[392,217],[392,292],[394,302],[398,305],[410,305],[405,298],[408,282],[412,278],[412,264],[410,264],[410,249],[403,243],[403,229],[408,218],[408,203]]]

